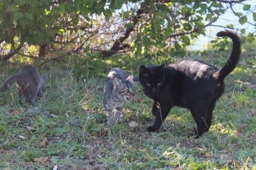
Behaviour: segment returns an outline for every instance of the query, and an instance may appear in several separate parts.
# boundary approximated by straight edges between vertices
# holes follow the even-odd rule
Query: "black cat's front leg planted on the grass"
[[[170,109],[171,109],[170,104],[159,105],[158,112],[156,113],[155,122],[152,126],[147,128],[147,131],[153,132],[153,131],[159,130],[159,128],[162,125],[162,122],[167,117],[168,113],[170,112]]]

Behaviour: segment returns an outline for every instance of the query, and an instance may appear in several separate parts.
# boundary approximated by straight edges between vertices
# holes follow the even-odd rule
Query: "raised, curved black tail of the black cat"
[[[226,62],[225,66],[220,69],[220,71],[216,72],[216,76],[218,77],[219,80],[223,80],[229,73],[231,73],[235,66],[238,63],[238,60],[240,58],[240,54],[241,54],[241,40],[240,38],[237,36],[236,33],[234,33],[233,31],[220,31],[219,33],[217,33],[218,37],[223,37],[223,36],[227,36],[230,37],[232,39],[233,42],[233,48],[232,48],[232,52],[230,57],[228,58],[228,61]]]

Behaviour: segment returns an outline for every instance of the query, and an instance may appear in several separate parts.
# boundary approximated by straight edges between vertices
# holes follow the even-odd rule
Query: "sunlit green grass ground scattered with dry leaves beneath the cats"
[[[138,76],[139,65],[158,64],[154,57],[90,59],[82,70],[44,65],[39,71],[48,76],[45,98],[36,106],[18,104],[14,86],[0,93],[0,169],[256,169],[255,53],[244,52],[226,78],[213,126],[200,139],[188,136],[195,122],[179,107],[158,133],[148,133],[152,101],[139,83],[136,100],[124,107],[123,124],[107,127],[102,101],[109,70],[121,66]],[[221,68],[228,55],[203,52],[158,60],[200,58]],[[17,65],[1,63],[0,84],[21,68]],[[75,78],[83,72],[85,77]],[[130,127],[132,121],[138,126]]]

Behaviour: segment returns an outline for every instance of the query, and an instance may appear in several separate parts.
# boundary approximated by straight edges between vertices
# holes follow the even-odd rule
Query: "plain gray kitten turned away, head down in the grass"
[[[36,97],[43,98],[45,90],[46,75],[40,77],[39,72],[32,65],[26,65],[18,74],[11,75],[0,88],[0,92],[5,92],[17,81],[17,91],[19,101],[26,99],[31,104],[36,104]]]

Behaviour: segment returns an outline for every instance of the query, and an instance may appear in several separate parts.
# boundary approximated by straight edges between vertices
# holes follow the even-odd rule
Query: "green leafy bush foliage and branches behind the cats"
[[[250,15],[256,22],[256,6],[246,2],[3,0],[1,60],[15,54],[46,63],[71,54],[86,57],[95,51],[105,57],[129,51],[135,55],[179,51],[205,35],[205,28],[229,8],[241,25],[248,23]],[[245,13],[235,11],[235,4]],[[229,24],[226,28],[235,27]],[[246,33],[245,29],[240,31]]]

